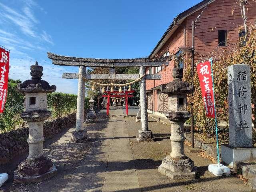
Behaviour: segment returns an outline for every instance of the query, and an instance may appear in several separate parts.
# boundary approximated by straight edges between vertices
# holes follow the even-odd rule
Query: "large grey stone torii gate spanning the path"
[[[55,65],[79,66],[78,74],[64,73],[62,78],[78,79],[76,130],[72,132],[74,142],[86,142],[87,131],[84,130],[84,92],[85,80],[136,80],[140,77],[140,105],[141,105],[141,130],[137,141],[152,141],[152,131],[148,130],[148,112],[146,102],[146,79],[161,79],[159,74],[146,74],[146,66],[168,65],[168,56],[162,58],[132,58],[132,59],[96,59],[61,56],[48,52],[48,58]],[[86,67],[108,67],[110,74],[86,74]],[[139,74],[115,74],[114,67],[139,67]],[[144,76],[144,74],[146,74]],[[84,77],[84,78],[81,78]]]

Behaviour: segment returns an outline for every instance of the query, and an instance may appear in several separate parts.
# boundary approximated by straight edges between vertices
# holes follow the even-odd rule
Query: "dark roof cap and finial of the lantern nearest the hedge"
[[[43,67],[36,64],[30,66],[30,80],[18,84],[18,90],[23,93],[51,93],[56,90],[56,86],[50,86],[47,81],[42,80]]]

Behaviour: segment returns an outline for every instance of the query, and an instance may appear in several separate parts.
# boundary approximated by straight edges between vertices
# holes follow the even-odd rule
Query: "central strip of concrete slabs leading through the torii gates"
[[[134,157],[122,110],[112,110],[108,125],[76,171],[60,190],[113,192],[139,188]]]

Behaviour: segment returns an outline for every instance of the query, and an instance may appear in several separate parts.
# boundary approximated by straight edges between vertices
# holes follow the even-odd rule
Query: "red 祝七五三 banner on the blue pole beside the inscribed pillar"
[[[196,69],[200,81],[206,116],[214,118],[214,93],[212,88],[211,63],[210,61],[200,62],[197,64]]]

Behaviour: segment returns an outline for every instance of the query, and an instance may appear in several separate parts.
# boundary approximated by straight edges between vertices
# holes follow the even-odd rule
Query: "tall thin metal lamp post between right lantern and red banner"
[[[191,84],[194,84],[194,49],[195,49],[195,23],[192,22],[192,58],[191,58],[191,71],[192,71],[192,81]],[[194,97],[194,94],[192,94]],[[193,112],[194,103],[191,102],[191,136],[192,136],[192,148],[194,148],[194,112]]]

